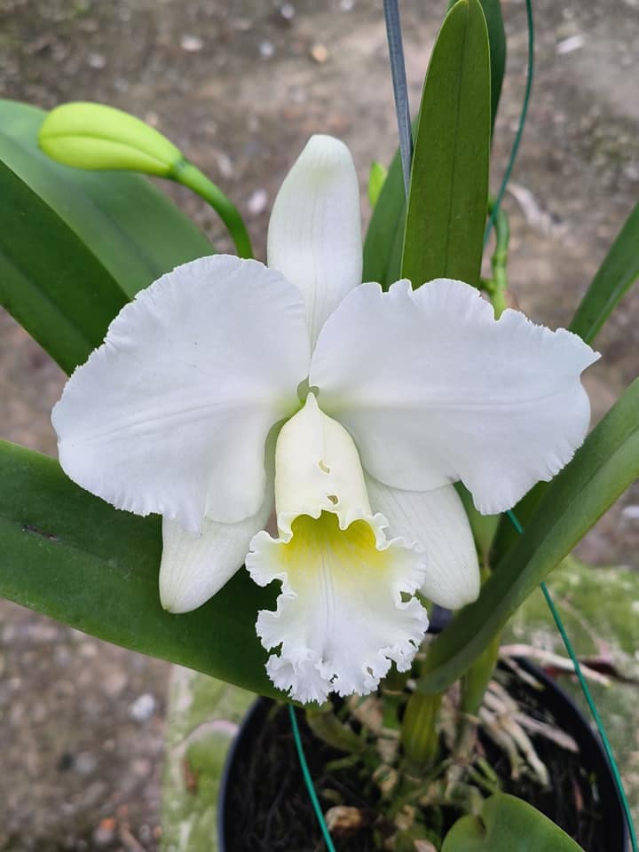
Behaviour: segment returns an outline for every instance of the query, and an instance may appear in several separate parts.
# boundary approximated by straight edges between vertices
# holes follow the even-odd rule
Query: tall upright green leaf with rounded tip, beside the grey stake
[[[414,287],[441,277],[479,284],[490,98],[484,12],[477,0],[459,0],[439,32],[422,93],[402,256],[402,276]]]

